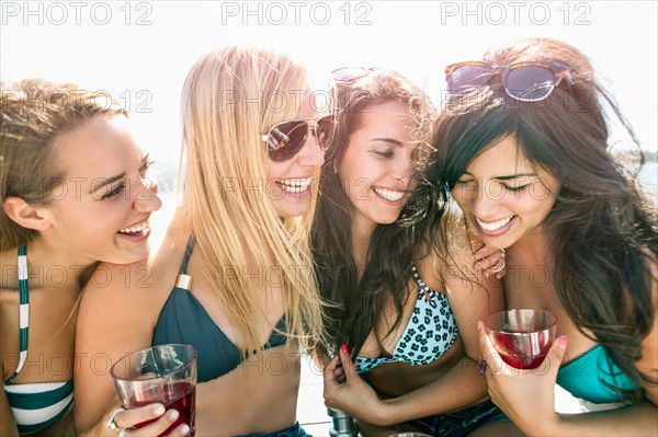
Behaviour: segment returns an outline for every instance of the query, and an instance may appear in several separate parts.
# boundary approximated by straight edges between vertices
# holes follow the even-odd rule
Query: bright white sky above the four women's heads
[[[0,78],[43,77],[106,90],[131,111],[161,161],[180,149],[179,96],[202,55],[259,45],[315,76],[392,68],[441,102],[447,64],[491,44],[552,36],[580,48],[610,80],[647,150],[657,149],[656,1],[5,1]]]

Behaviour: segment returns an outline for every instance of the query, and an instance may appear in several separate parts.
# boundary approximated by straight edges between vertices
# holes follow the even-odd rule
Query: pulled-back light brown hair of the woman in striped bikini
[[[56,139],[98,115],[127,115],[105,92],[71,83],[25,79],[0,83],[0,206],[10,196],[48,205],[50,189],[66,176],[52,157]],[[0,229],[3,250],[26,244],[36,232],[15,223],[3,208]]]

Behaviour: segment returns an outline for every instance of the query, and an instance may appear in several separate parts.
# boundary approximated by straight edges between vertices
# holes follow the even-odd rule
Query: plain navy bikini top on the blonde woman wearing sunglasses
[[[234,370],[247,357],[190,292],[191,277],[188,275],[188,262],[193,249],[194,242],[190,240],[175,286],[158,317],[151,344],[155,346],[178,343],[194,346],[197,352],[197,380],[205,382]],[[276,324],[276,330],[285,331],[283,318]],[[276,330],[263,346],[265,349],[285,343],[285,336],[279,334]]]

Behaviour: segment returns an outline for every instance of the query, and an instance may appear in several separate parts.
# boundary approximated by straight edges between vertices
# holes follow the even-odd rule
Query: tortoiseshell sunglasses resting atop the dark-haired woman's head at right
[[[564,67],[549,62],[514,62],[495,67],[481,60],[452,64],[445,68],[447,91],[452,94],[468,93],[487,84],[495,76],[507,94],[521,102],[537,102],[551,95],[564,79],[571,84],[571,73]]]

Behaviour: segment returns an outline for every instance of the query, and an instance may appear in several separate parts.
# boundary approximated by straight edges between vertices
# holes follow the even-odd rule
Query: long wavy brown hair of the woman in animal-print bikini
[[[311,229],[311,250],[316,274],[326,308],[326,330],[331,344],[318,346],[321,360],[328,360],[341,344],[358,354],[375,320],[381,314],[387,294],[401,309],[411,275],[412,249],[422,234],[422,222],[409,225],[410,216],[424,211],[423,199],[408,203],[397,222],[378,225],[367,249],[367,266],[359,280],[352,256],[351,216],[354,207],[344,193],[334,169],[340,165],[350,136],[362,123],[368,108],[397,101],[407,105],[416,122],[412,141],[415,158],[421,164],[429,157],[429,133],[435,112],[427,95],[411,81],[393,71],[373,70],[350,82],[339,82],[337,92],[337,128],[321,170],[319,197]]]

